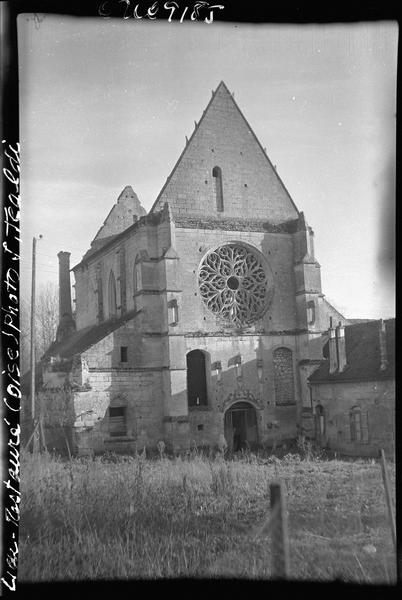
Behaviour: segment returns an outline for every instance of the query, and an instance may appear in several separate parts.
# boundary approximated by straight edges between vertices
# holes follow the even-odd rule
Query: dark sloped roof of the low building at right
[[[309,377],[311,383],[342,381],[377,381],[395,378],[395,319],[385,322],[388,366],[380,370],[381,321],[366,321],[345,327],[346,367],[342,373],[329,372],[328,342],[324,346],[326,360]]]

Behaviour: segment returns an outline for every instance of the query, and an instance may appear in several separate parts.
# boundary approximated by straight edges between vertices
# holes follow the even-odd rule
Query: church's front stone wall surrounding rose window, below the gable
[[[309,358],[310,344],[306,334],[296,331],[292,236],[175,227],[174,240],[178,269],[173,279],[178,291],[168,298],[177,299],[179,320],[169,326],[170,395],[165,398],[165,414],[176,419],[188,417],[187,435],[191,443],[216,445],[224,433],[225,411],[236,401],[246,400],[256,409],[260,444],[272,446],[294,439],[302,408],[297,364],[300,358]],[[275,290],[261,322],[248,328],[243,335],[225,327],[208,310],[198,288],[198,268],[205,254],[229,242],[249,244],[264,255]],[[273,356],[278,348],[287,348],[291,352],[283,378],[284,384],[287,380],[289,392],[286,406],[277,406],[275,401]],[[195,349],[202,350],[206,356],[208,406],[189,409],[186,355]],[[317,353],[321,357],[321,346],[317,347],[315,355]],[[233,362],[237,355],[242,362],[240,378]],[[258,381],[257,360],[262,361],[261,382]],[[222,366],[220,381],[213,369],[216,362]],[[303,385],[307,387],[305,380]],[[184,423],[181,427],[185,429]],[[171,435],[175,435],[173,430]]]

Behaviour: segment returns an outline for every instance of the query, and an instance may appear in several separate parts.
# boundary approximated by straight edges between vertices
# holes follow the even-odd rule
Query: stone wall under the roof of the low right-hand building
[[[312,384],[314,407],[324,408],[322,446],[351,456],[378,456],[383,448],[395,451],[395,381]],[[367,413],[368,441],[351,439],[350,410],[359,406]]]

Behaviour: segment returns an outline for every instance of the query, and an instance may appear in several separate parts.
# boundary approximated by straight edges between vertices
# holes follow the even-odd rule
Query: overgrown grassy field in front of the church
[[[270,578],[270,537],[254,533],[279,477],[292,579],[396,581],[376,461],[198,454],[115,461],[22,456],[20,582]],[[393,465],[389,471],[394,489]]]

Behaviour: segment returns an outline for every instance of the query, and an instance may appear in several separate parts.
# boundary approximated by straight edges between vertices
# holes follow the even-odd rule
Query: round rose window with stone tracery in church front
[[[198,273],[201,297],[216,316],[236,326],[258,321],[268,307],[270,288],[263,257],[243,244],[209,252]]]

